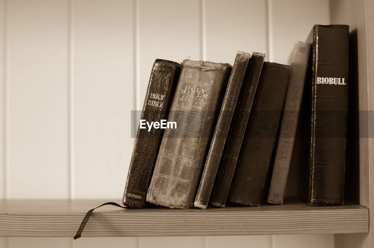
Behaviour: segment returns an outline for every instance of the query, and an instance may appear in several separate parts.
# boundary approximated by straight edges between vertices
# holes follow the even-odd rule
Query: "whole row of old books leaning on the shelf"
[[[291,66],[244,52],[233,66],[157,59],[141,114],[149,128],[138,128],[123,204],[259,206],[269,168],[267,202],[283,204],[301,130],[307,203],[342,205],[348,38],[347,25],[315,25]]]

